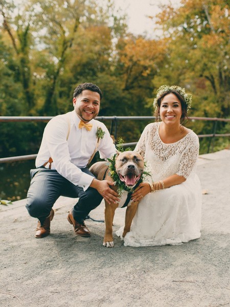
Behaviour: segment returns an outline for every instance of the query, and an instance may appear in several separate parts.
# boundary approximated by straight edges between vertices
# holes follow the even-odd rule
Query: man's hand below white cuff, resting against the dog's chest
[[[90,187],[95,188],[103,196],[103,198],[110,204],[110,203],[120,202],[120,199],[118,198],[118,193],[116,191],[113,191],[109,187],[113,185],[114,185],[113,181],[94,179],[91,182]]]

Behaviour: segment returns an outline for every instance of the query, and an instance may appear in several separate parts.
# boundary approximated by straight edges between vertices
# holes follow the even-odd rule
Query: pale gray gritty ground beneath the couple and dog
[[[25,200],[0,205],[0,306],[230,306],[230,150],[202,155],[201,238],[178,246],[102,246],[104,223],[86,220],[90,238],[67,220],[76,199],[55,204],[51,235],[34,237]],[[123,225],[118,209],[113,231]],[[90,212],[103,220],[103,203]]]

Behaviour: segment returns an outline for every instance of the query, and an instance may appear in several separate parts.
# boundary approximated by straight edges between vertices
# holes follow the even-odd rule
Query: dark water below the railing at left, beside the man
[[[18,201],[25,199],[30,185],[30,169],[35,160],[0,164],[0,199]]]

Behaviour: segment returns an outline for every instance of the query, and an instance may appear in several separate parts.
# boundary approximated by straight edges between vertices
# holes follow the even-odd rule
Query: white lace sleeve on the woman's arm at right
[[[199,155],[199,139],[197,135],[194,133],[189,141],[187,149],[185,150],[185,152],[183,152],[183,155],[179,163],[179,168],[176,174],[188,178],[189,174],[196,165],[198,155]]]

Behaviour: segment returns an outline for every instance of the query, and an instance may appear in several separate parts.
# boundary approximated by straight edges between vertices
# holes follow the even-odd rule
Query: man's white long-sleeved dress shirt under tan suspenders
[[[61,176],[84,189],[89,187],[93,177],[83,173],[80,168],[87,166],[97,144],[97,130],[101,127],[105,131],[100,139],[98,150],[101,159],[110,158],[116,153],[116,147],[106,126],[98,120],[92,119],[90,131],[85,127],[79,129],[80,118],[75,111],[52,118],[44,129],[41,146],[35,165],[42,166],[51,157],[51,169],[56,169]],[[70,134],[68,135],[68,129]],[[50,163],[45,167],[49,168]]]

